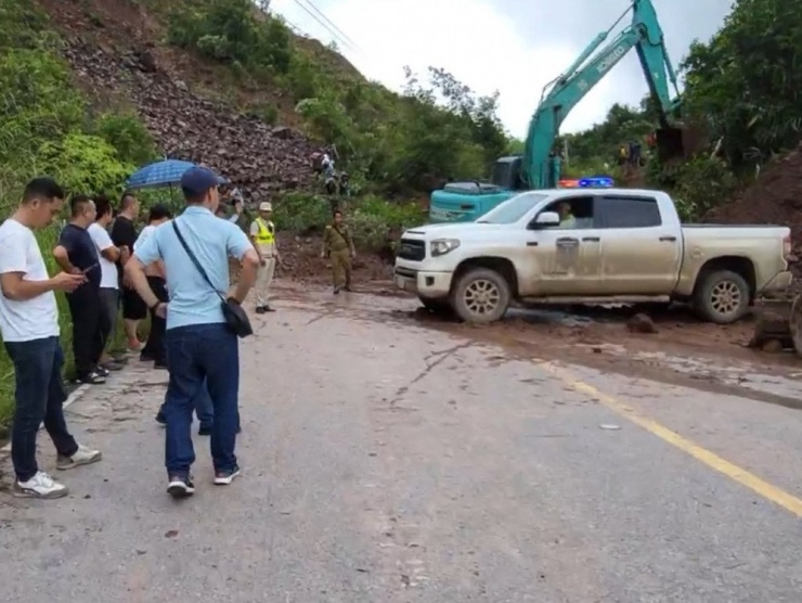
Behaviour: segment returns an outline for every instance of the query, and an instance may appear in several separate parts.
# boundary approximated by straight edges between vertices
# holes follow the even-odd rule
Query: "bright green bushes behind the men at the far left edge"
[[[144,127],[119,107],[92,115],[59,56],[59,39],[46,16],[27,0],[0,0],[0,220],[13,213],[25,183],[49,174],[69,191],[115,194],[132,167],[154,155]],[[117,111],[115,111],[115,108]],[[46,261],[55,228],[38,233]],[[70,322],[59,295],[67,371],[72,371]],[[0,424],[12,411],[13,370],[0,349]]]

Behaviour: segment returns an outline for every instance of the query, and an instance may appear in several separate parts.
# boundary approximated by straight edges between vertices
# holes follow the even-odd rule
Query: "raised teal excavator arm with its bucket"
[[[593,59],[587,59],[606,40],[609,31],[632,11],[632,23]],[[669,154],[682,152],[682,136],[669,125],[668,116],[680,105],[672,100],[669,84],[673,85],[673,99],[678,98],[676,75],[671,66],[663,33],[651,0],[633,0],[607,33],[599,34],[569,69],[544,89],[538,110],[532,116],[527,136],[521,178],[533,189],[556,187],[560,176],[560,159],[552,152],[559,127],[569,112],[616,66],[633,48],[652,97],[660,106],[658,146],[669,149]],[[551,90],[549,90],[551,87]],[[547,90],[547,93],[546,93]]]

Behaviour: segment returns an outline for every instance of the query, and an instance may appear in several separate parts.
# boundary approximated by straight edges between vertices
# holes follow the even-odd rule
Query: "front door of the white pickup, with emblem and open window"
[[[592,196],[561,197],[574,206],[593,205]],[[555,211],[553,204],[541,209]],[[598,287],[600,275],[600,230],[594,218],[579,218],[570,228],[530,230],[529,274],[521,296],[582,295]]]

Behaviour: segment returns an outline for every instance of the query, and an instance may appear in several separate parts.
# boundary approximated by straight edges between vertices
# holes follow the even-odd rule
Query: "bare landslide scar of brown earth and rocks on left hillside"
[[[268,125],[235,102],[197,93],[224,74],[164,46],[163,27],[143,4],[39,4],[65,40],[63,53],[80,87],[99,106],[134,108],[166,156],[214,166],[255,201],[311,182],[314,145],[293,127]]]

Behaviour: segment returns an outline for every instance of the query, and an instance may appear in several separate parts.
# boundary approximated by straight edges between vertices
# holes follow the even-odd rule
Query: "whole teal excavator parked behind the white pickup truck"
[[[629,13],[632,13],[630,25],[596,52]],[[500,158],[493,167],[491,182],[451,182],[435,191],[429,203],[429,221],[474,221],[519,192],[558,187],[561,159],[554,152],[554,143],[560,125],[632,49],[637,53],[649,92],[659,107],[660,124],[655,132],[658,158],[667,161],[682,156],[683,133],[672,126],[672,119],[678,116],[680,90],[657,12],[651,0],[632,0],[632,5],[616,23],[596,36],[571,66],[543,89],[529,125],[523,155]],[[592,187],[594,179],[579,179],[572,185]]]

